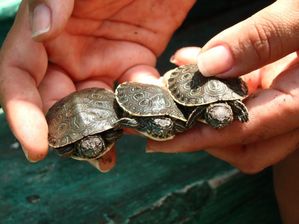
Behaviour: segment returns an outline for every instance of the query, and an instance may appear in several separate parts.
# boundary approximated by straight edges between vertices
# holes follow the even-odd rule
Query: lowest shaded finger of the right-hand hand
[[[246,174],[255,174],[286,158],[299,145],[299,128],[248,145],[206,149]]]

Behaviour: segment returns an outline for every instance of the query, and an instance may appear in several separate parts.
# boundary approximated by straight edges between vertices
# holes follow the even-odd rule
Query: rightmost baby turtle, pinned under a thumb
[[[182,65],[171,73],[167,88],[173,99],[185,106],[189,114],[187,127],[204,118],[208,125],[223,128],[231,124],[233,113],[240,122],[249,120],[241,102],[248,95],[248,87],[240,77],[205,77],[196,64]]]

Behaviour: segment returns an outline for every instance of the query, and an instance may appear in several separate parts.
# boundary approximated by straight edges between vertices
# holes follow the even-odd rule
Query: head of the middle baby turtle
[[[168,116],[151,117],[151,132],[157,137],[166,137],[173,134],[173,120]]]

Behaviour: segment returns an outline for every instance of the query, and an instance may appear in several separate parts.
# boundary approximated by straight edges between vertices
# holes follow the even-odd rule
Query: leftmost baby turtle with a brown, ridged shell
[[[123,134],[123,117],[115,95],[104,88],[76,91],[56,102],[46,114],[48,142],[62,157],[96,159]]]

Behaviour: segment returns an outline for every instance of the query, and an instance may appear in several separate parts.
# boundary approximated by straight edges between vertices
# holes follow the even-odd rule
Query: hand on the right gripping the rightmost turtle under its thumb
[[[299,47],[298,9],[298,1],[276,1],[215,36],[199,55],[198,48],[177,51],[172,59],[176,65],[196,63],[197,58],[205,76],[229,78],[247,74],[244,78],[253,93],[243,102],[250,120],[217,130],[197,122],[172,140],[148,140],[147,150],[205,149],[248,174],[294,151],[299,144],[299,66],[297,54],[292,53]]]

